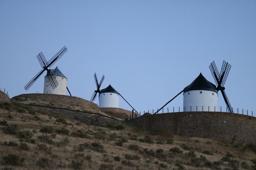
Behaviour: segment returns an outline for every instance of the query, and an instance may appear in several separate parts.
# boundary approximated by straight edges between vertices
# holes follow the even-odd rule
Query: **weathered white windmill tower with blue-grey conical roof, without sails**
[[[47,71],[47,74],[45,76],[44,93],[66,95],[67,77],[59,70],[58,67],[49,70],[51,72]],[[54,76],[54,78],[58,82],[58,86],[56,86],[55,88],[53,88],[51,84],[52,76]]]

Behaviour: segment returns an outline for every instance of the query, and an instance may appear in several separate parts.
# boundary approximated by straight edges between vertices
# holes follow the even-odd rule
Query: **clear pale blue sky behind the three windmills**
[[[137,111],[160,108],[200,72],[214,83],[210,62],[220,70],[226,60],[232,107],[256,111],[255,0],[0,0],[0,88],[10,97],[42,93],[46,73],[24,90],[41,70],[36,55],[63,46],[52,68],[74,96],[91,98],[96,72]],[[182,105],[180,95],[168,106]],[[121,98],[120,107],[130,110]]]

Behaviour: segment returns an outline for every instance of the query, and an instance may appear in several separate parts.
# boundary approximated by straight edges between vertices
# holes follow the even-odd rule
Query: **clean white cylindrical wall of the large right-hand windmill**
[[[214,106],[216,109],[218,106],[218,94],[207,90],[187,91],[183,93],[183,112],[190,111],[190,106],[191,111],[208,111],[208,106],[210,106],[210,112],[214,112]]]

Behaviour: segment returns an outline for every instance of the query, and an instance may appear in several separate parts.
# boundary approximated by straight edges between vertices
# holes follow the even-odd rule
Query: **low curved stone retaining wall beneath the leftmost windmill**
[[[12,99],[25,103],[44,104],[85,112],[102,113],[97,104],[79,97],[71,97],[67,95],[32,93],[18,95]]]

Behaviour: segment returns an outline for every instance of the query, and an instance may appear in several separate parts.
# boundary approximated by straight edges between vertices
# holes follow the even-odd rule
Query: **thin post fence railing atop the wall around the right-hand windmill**
[[[246,110],[242,108],[232,108],[232,109],[234,113],[256,117],[256,112],[252,110]],[[156,113],[157,111],[158,113]],[[143,115],[144,113],[161,114],[161,113],[174,113],[174,112],[228,112],[228,108],[223,106],[166,107],[161,110],[158,110],[158,109],[144,110],[139,112],[139,114],[140,115]]]

